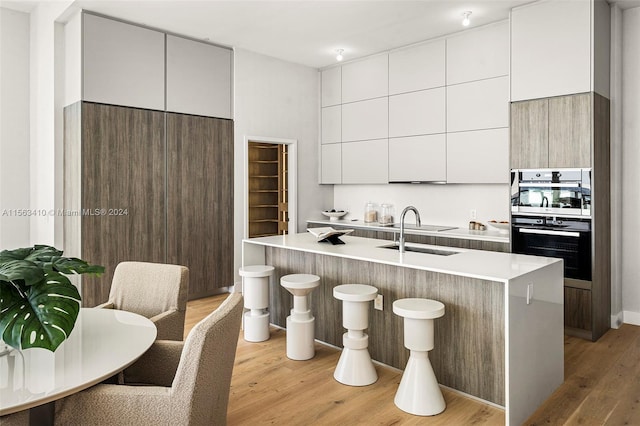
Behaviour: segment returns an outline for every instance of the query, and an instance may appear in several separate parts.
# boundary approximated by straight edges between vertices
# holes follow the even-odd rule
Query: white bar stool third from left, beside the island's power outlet
[[[349,386],[367,386],[378,380],[378,374],[369,355],[369,303],[378,295],[378,289],[364,284],[344,284],[333,288],[333,297],[342,300],[342,336],[344,348],[333,377]]]

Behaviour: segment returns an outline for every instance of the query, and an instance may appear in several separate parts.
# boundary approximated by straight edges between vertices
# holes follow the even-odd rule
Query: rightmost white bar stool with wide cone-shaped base
[[[411,351],[394,403],[402,411],[433,416],[446,404],[429,362],[433,349],[433,320],[444,315],[444,305],[430,299],[399,299],[393,313],[404,317],[404,346]]]

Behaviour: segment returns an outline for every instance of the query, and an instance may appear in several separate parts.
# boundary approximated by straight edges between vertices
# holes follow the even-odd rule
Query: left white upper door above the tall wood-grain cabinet
[[[164,33],[83,14],[82,99],[164,110]]]

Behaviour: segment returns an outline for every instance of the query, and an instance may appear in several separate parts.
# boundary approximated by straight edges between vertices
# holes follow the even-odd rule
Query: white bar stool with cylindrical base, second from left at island
[[[280,285],[293,294],[293,309],[287,317],[287,358],[304,361],[316,354],[314,345],[315,318],[309,309],[309,293],[320,285],[320,277],[312,274],[291,274],[280,278]]]

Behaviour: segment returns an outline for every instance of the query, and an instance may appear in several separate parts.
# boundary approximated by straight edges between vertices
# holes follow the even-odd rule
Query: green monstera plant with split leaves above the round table
[[[101,274],[104,267],[62,257],[55,247],[0,252],[0,339],[16,349],[55,351],[69,336],[80,311],[70,274]]]

